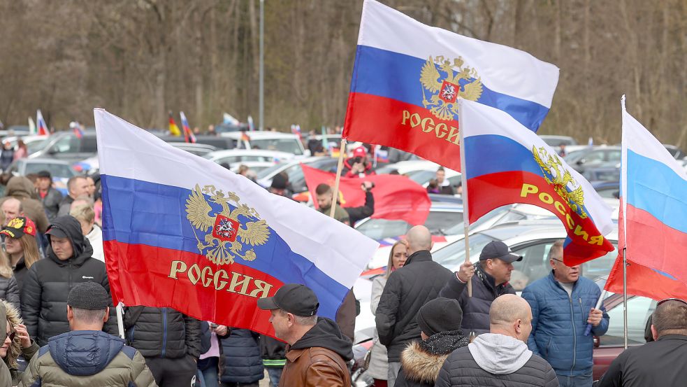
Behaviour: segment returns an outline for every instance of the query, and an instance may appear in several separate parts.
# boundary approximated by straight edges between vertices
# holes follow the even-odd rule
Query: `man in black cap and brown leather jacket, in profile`
[[[346,362],[352,343],[329,318],[317,317],[317,296],[305,285],[287,283],[274,297],[258,300],[272,314],[277,338],[287,342],[287,365],[280,386],[350,387]]]

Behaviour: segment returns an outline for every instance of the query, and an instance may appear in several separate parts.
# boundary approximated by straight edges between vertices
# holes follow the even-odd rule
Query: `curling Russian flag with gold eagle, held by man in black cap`
[[[470,223],[506,204],[533,204],[565,225],[566,265],[613,251],[604,237],[613,228],[611,209],[554,149],[504,111],[463,101],[462,113]]]

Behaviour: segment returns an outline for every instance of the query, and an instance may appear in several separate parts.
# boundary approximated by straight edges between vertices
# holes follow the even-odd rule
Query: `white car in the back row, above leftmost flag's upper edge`
[[[222,137],[236,141],[236,146],[254,150],[277,150],[291,155],[307,155],[297,134],[281,132],[224,132]],[[244,139],[244,136],[247,139]]]

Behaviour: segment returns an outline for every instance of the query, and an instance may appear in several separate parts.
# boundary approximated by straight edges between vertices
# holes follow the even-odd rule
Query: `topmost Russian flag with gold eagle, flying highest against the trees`
[[[458,97],[505,111],[536,132],[557,83],[558,68],[527,52],[365,0],[343,136],[459,171]]]

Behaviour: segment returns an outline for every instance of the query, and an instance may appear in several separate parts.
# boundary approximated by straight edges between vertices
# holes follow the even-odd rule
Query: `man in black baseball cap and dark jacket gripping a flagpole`
[[[513,262],[522,260],[502,241],[491,241],[479,254],[474,265],[463,263],[455,276],[439,293],[440,297],[453,298],[463,308],[463,332],[475,335],[489,332],[489,308],[496,297],[515,294],[508,283]],[[476,275],[475,275],[476,274]],[[468,281],[472,281],[472,300],[468,297]]]

